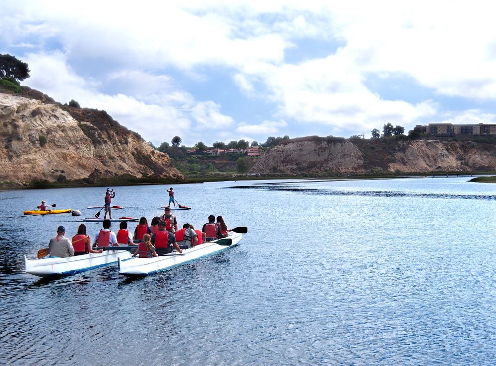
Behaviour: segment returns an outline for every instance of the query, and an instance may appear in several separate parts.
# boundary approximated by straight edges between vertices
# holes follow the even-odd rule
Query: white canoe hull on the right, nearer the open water
[[[183,249],[183,254],[174,251],[154,258],[132,258],[125,261],[120,259],[119,273],[124,276],[146,276],[165,271],[228,250],[238,245],[242,237],[242,234],[233,233],[227,237],[232,239],[231,245],[219,245],[214,241],[196,245],[191,249]]]

